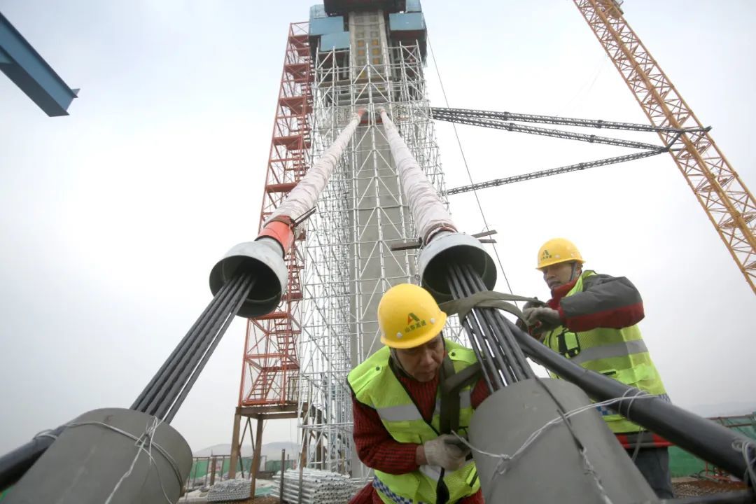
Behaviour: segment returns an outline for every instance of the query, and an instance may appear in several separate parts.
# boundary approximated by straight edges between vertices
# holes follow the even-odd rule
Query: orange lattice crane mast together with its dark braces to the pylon
[[[640,125],[625,123],[435,107],[432,109],[434,119],[573,140],[581,140],[581,138],[577,138],[579,135],[567,134],[565,131],[548,133],[547,131],[553,130],[523,127],[507,121],[655,131],[662,139],[663,145],[653,149],[640,144],[632,145],[631,142],[615,142],[615,145],[621,147],[637,147],[645,151],[456,187],[449,190],[448,194],[574,172],[593,166],[609,165],[668,152],[696,195],[711,224],[714,224],[714,228],[727,246],[728,252],[738,265],[745,281],[756,293],[756,203],[754,203],[751,191],[745,187],[742,179],[714,143],[714,139],[709,134],[711,128],[702,125],[667,74],[624,20],[621,1],[573,0],[573,2],[601,42],[627,87],[633,92],[638,104],[651,122],[651,126],[639,128]],[[593,137],[593,135],[590,136]],[[600,143],[611,144],[606,140],[608,139],[602,139]],[[589,138],[587,141],[594,140]]]

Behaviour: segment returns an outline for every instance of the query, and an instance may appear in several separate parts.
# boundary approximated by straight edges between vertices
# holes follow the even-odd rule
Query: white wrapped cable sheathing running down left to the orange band
[[[323,151],[318,162],[308,170],[307,175],[290,191],[283,203],[273,211],[270,218],[268,218],[268,222],[279,215],[287,215],[287,217],[296,221],[315,206],[318,196],[320,196],[326,187],[333,169],[336,168],[336,163],[339,162],[346,144],[349,144],[349,139],[355,134],[355,130],[360,124],[361,119],[361,113],[352,114],[349,124],[342,129],[339,136],[333,141],[333,144]]]

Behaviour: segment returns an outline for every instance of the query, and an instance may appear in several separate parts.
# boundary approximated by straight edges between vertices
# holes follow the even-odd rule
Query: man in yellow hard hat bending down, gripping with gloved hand
[[[469,447],[451,434],[466,435],[488,396],[475,354],[443,337],[446,314],[420,286],[386,291],[378,323],[386,346],[348,379],[355,447],[375,470],[350,503],[482,503]]]

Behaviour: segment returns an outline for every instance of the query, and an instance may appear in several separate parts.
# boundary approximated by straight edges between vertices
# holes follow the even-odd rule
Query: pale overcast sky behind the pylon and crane
[[[82,88],[70,116],[48,118],[0,76],[0,453],[87,410],[129,407],[209,302],[212,265],[256,235],[287,27],[312,3],[0,0]],[[423,7],[452,107],[646,121],[573,2]],[[624,11],[756,186],[756,3]],[[448,187],[469,183],[451,125],[437,129]],[[475,181],[629,152],[458,129]],[[479,196],[514,292],[547,298],[538,247],[569,237],[587,267],[640,289],[641,329],[677,404],[756,403],[756,300],[669,156]],[[450,197],[460,229],[482,230],[472,194]],[[237,321],[173,422],[194,450],[231,440],[242,352]],[[296,429],[268,425],[265,441]]]

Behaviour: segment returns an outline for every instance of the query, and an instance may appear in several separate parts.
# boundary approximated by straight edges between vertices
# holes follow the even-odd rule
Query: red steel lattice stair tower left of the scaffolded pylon
[[[259,229],[305,175],[309,166],[312,71],[308,23],[291,23],[276,104]],[[239,406],[296,405],[297,344],[304,256],[296,237],[286,256],[287,292],[271,314],[247,320]]]

